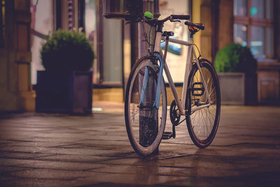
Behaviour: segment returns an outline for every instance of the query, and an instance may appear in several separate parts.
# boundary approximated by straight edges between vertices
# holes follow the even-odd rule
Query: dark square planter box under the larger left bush
[[[92,71],[37,71],[36,112],[92,113]]]

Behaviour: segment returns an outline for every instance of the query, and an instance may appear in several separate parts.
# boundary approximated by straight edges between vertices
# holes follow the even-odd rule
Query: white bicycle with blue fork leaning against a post
[[[204,25],[188,21],[189,15],[169,15],[163,20],[152,19],[150,15],[151,13],[144,13],[132,21],[148,23],[156,28],[156,34],[155,44],[149,43],[154,48],[151,55],[137,60],[127,82],[125,124],[130,144],[139,155],[151,155],[158,150],[162,139],[175,138],[175,127],[186,120],[193,143],[199,148],[206,148],[213,141],[218,129],[221,96],[214,66],[209,60],[200,58],[200,55],[197,57],[193,47],[193,36],[200,29],[203,30]],[[172,39],[170,36],[173,36],[174,32],[162,32],[164,23],[168,20],[187,20],[185,25],[190,31],[189,40]],[[165,41],[164,54],[160,48],[161,41]],[[165,62],[169,42],[188,46],[181,99]],[[198,52],[200,54],[199,50]],[[169,109],[172,132],[165,132],[167,93],[162,76],[163,69],[174,96]],[[181,116],[185,116],[185,119],[181,120]]]

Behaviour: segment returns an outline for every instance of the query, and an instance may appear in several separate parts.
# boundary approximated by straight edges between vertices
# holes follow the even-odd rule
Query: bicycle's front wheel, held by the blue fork
[[[146,89],[143,88],[145,72],[148,75]],[[165,130],[167,95],[163,78],[159,109],[154,106],[157,85],[158,66],[151,57],[141,58],[132,68],[125,92],[127,135],[134,151],[140,155],[151,155],[157,151]],[[143,104],[140,104],[141,92],[146,93]]]

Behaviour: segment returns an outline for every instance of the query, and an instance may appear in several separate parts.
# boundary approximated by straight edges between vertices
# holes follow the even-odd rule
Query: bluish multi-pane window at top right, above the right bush
[[[272,58],[274,55],[272,4],[273,0],[234,1],[235,43],[251,48],[258,60]]]

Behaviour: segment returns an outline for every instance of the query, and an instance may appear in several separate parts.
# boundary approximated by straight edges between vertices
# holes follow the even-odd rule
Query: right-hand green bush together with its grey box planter
[[[255,104],[257,60],[250,48],[230,43],[218,50],[214,67],[218,72],[222,104]]]

